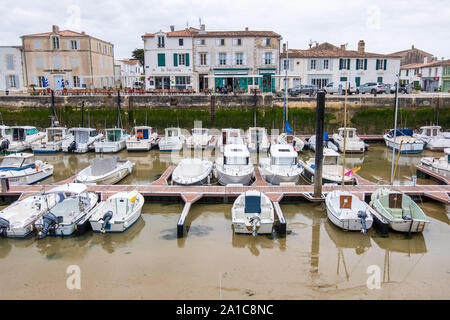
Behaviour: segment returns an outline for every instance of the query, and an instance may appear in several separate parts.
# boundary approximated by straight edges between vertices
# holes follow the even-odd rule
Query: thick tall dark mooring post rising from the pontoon
[[[323,123],[325,117],[325,91],[317,91],[316,158],[314,168],[314,197],[322,197]]]

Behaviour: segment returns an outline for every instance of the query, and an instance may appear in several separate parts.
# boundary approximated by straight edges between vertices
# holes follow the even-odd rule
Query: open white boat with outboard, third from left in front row
[[[94,232],[124,232],[141,216],[144,197],[136,190],[118,192],[102,201],[89,219]]]

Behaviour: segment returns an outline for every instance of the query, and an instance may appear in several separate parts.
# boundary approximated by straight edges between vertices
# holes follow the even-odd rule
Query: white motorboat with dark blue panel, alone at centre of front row
[[[235,233],[271,234],[274,224],[272,201],[264,193],[249,190],[234,201],[231,221]]]

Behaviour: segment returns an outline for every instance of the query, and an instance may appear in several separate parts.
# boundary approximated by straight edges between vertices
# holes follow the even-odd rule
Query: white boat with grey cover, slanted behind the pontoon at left
[[[116,157],[94,158],[92,165],[81,170],[76,182],[87,184],[115,184],[129,175],[134,163]]]

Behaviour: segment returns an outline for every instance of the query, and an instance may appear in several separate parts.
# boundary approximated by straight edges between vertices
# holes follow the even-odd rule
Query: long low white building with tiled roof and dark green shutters
[[[286,59],[287,56],[287,59]],[[306,50],[289,49],[283,45],[281,72],[288,70],[288,88],[300,84],[317,85],[319,88],[330,82],[347,81],[363,85],[367,82],[394,83],[400,70],[400,56],[378,54],[365,51],[365,43],[360,40],[358,50],[346,50],[345,45],[336,47],[324,42]],[[284,79],[277,81],[284,89]]]

